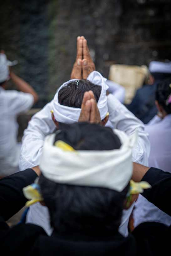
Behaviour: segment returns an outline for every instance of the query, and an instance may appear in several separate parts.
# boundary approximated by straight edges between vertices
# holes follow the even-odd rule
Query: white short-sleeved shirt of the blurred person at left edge
[[[12,174],[18,167],[17,115],[31,108],[33,103],[32,94],[4,90],[0,86],[0,176]]]

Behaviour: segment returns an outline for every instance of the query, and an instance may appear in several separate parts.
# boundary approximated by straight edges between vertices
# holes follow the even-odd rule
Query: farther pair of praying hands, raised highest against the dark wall
[[[96,70],[95,64],[91,59],[84,36],[77,37],[77,56],[71,72],[71,79],[87,79],[88,75]]]

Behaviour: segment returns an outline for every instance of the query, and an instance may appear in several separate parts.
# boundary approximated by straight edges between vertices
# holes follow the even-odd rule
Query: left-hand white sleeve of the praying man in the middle
[[[56,128],[50,113],[52,109],[53,101],[46,104],[28,122],[28,127],[25,129],[22,138],[19,158],[19,169],[21,171],[39,165],[44,138],[48,134],[53,133]]]

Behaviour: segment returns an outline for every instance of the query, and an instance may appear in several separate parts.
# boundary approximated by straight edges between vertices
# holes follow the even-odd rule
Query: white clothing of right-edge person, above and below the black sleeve
[[[149,167],[171,172],[171,114],[163,119],[156,115],[145,125],[145,131],[149,133],[151,143]],[[170,226],[171,216],[148,202],[143,196],[139,196],[134,211],[134,224],[137,226],[145,221],[155,221]]]

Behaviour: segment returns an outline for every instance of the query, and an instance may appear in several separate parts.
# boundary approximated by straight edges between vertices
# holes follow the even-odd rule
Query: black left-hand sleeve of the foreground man
[[[5,221],[16,214],[26,203],[23,187],[34,183],[38,177],[32,169],[14,173],[0,179],[0,215]]]

